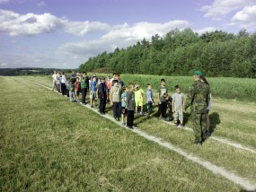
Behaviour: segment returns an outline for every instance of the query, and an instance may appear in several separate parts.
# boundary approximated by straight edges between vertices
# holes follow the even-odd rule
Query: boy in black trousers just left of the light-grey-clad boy
[[[168,88],[165,85],[165,80],[164,79],[161,79],[161,84],[158,87],[157,92],[158,92],[158,95],[157,95],[157,97],[158,97],[158,111],[157,111],[155,116],[156,117],[162,116],[162,119],[165,119],[166,109],[167,109],[167,102],[165,100],[166,99],[165,97],[167,95],[165,95],[165,97],[163,97],[163,94],[168,93]]]

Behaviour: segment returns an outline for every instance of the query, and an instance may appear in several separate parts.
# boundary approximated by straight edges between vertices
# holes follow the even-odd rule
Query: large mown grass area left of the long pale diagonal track
[[[241,189],[23,77],[0,79],[2,191]]]

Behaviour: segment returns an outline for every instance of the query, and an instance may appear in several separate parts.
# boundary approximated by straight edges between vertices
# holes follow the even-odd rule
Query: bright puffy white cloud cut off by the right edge
[[[256,4],[246,6],[242,11],[235,13],[229,25],[239,25],[242,28],[256,30]]]

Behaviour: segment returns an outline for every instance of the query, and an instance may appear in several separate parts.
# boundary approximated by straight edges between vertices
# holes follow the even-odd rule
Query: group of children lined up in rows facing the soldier
[[[57,84],[60,86],[57,86]],[[135,127],[135,115],[145,115],[143,89],[134,83],[129,83],[128,86],[125,86],[120,80],[118,73],[114,73],[112,78],[110,78],[110,74],[107,75],[107,78],[98,78],[96,74],[89,78],[85,72],[82,74],[75,74],[73,72],[69,79],[65,73],[59,72],[53,74],[52,89],[54,88],[57,89],[57,92],[62,92],[63,95],[69,97],[70,101],[80,101],[79,95],[82,93],[82,104],[86,104],[86,94],[90,91],[90,104],[92,108],[95,107],[95,101],[99,99],[99,111],[104,115],[106,104],[110,102],[114,118],[117,121],[121,120],[122,125],[128,128]],[[175,126],[181,124],[181,127],[183,127],[184,94],[181,93],[179,85],[174,87],[174,91],[175,93],[172,96],[169,95],[165,80],[161,79],[161,84],[157,89],[158,110],[154,117],[168,121],[173,119]],[[146,116],[148,118],[152,117],[153,106],[154,93],[152,85],[147,83]],[[167,112],[168,117],[166,117]]]

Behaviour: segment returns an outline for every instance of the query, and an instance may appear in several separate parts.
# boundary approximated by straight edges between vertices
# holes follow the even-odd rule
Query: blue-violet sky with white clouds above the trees
[[[0,0],[0,68],[75,69],[190,28],[256,32],[256,0]]]

